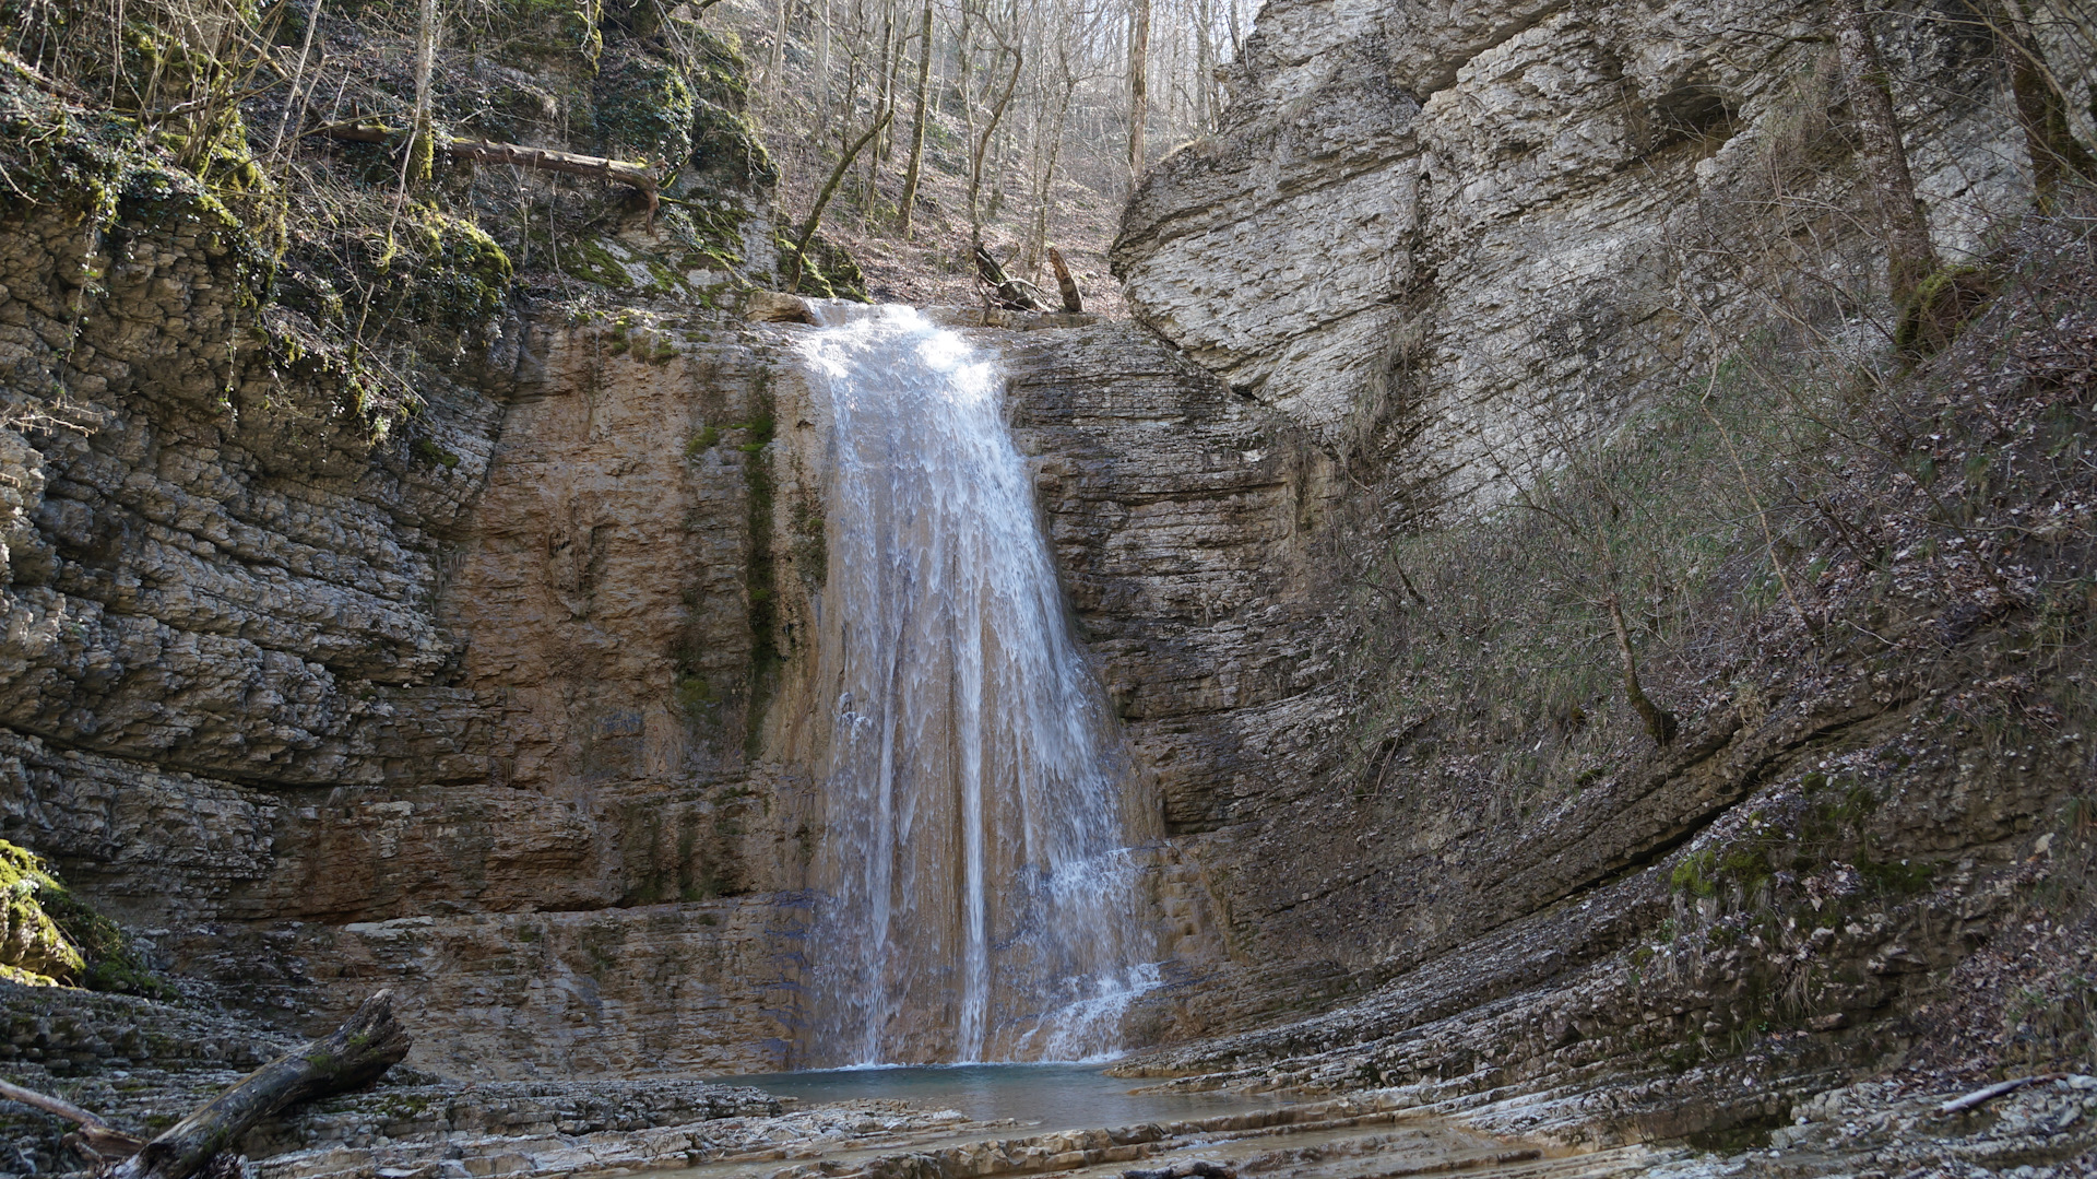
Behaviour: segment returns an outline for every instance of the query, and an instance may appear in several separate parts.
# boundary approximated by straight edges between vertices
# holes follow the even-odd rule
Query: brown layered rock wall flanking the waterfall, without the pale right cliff
[[[266,359],[226,367],[233,245],[147,220],[103,243],[136,285],[55,352],[75,245],[8,302],[17,367],[78,401],[8,434],[6,837],[287,1028],[394,986],[447,1072],[788,1064],[822,837],[791,755],[824,531],[805,327],[510,321],[373,436]],[[1206,751],[1231,709],[1285,694],[1233,663],[1288,642],[1260,579],[1325,476],[1139,331],[1040,336],[981,342],[1013,348],[1164,818],[1199,829],[1244,791]],[[1170,950],[1220,959],[1199,866],[1155,860]]]

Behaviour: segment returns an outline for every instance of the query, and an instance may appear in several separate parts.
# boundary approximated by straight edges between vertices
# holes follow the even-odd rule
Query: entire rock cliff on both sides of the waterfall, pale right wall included
[[[2087,210],[2024,216],[2001,38],[1896,6],[1950,266],[1894,306],[1826,21],[1273,0],[1128,208],[1141,327],[969,329],[1166,831],[1126,1072],[1673,1137],[2089,1049]],[[606,136],[633,42],[556,80]],[[25,78],[17,147],[78,115]],[[164,151],[36,157],[92,199],[0,210],[0,837],[212,1045],[8,990],[0,1057],[384,984],[461,1078],[795,1064],[822,409],[711,78],[719,218],[417,212],[369,352]]]

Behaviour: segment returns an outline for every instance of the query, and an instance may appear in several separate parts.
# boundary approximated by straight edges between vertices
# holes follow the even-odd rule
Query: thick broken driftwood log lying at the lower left
[[[377,992],[333,1034],[250,1072],[168,1133],[138,1148],[109,1179],[189,1179],[250,1127],[300,1101],[363,1089],[401,1064],[413,1041],[392,1017],[392,994]]]

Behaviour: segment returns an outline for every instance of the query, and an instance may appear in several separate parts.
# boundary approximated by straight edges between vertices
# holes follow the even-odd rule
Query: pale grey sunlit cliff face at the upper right
[[[1493,497],[1539,447],[1703,371],[1707,317],[1764,315],[1724,281],[1759,250],[1724,206],[1766,183],[1801,111],[1839,101],[1824,19],[1734,0],[1269,4],[1225,128],[1151,170],[1116,275],[1145,323],[1382,470],[1409,512]],[[1883,34],[1938,243],[1982,250],[2028,185],[1992,46],[1927,13]],[[1831,172],[1787,183],[1847,191]]]

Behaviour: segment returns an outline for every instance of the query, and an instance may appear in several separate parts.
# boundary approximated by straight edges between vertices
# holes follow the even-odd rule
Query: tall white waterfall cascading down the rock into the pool
[[[1109,1053],[1155,984],[1147,833],[998,367],[908,306],[818,308],[828,732],[803,1064]]]

